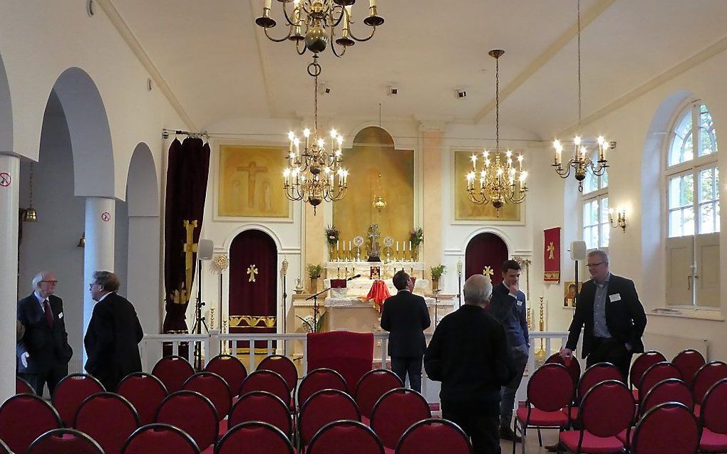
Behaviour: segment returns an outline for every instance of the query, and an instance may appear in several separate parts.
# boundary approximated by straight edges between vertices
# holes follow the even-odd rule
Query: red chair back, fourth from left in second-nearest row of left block
[[[262,421],[281,429],[286,437],[293,433],[290,407],[280,397],[267,391],[243,394],[230,411],[228,426],[248,421]]]

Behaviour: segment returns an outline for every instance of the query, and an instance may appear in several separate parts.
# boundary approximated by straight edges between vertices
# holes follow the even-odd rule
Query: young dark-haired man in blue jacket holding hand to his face
[[[502,283],[492,288],[490,314],[505,328],[510,356],[515,368],[515,376],[509,383],[502,386],[500,400],[500,438],[521,442],[510,428],[515,406],[515,393],[523,379],[528,363],[530,339],[528,337],[528,320],[526,315],[525,293],[520,291],[521,268],[515,260],[506,260],[502,264]]]

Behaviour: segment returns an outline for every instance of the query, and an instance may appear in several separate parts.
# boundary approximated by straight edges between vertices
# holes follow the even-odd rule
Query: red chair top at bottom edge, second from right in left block
[[[364,423],[333,421],[313,435],[306,450],[306,454],[329,453],[384,454],[384,445]]]

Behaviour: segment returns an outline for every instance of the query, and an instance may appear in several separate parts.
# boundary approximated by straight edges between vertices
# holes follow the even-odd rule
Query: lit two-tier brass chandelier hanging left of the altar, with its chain
[[[312,64],[313,65],[313,64]],[[310,69],[309,69],[310,70]],[[316,70],[320,73],[320,69]],[[318,137],[318,76],[315,76],[314,123],[311,137],[310,129],[303,130],[303,150],[300,138],[293,131],[288,133],[290,140],[287,166],[283,171],[284,190],[289,200],[303,200],[316,207],[324,200],[341,200],[346,194],[348,171],[341,167],[341,144],[343,137],[331,130],[331,149],[326,151],[325,140]],[[334,151],[335,150],[335,151]]]

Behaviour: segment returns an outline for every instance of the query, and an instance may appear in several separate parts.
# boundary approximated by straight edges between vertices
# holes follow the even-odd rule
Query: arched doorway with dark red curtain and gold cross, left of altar
[[[245,230],[230,246],[230,333],[275,333],[278,290],[278,249],[261,230]],[[257,342],[258,352],[266,351]],[[238,342],[237,353],[249,352],[248,342]]]

